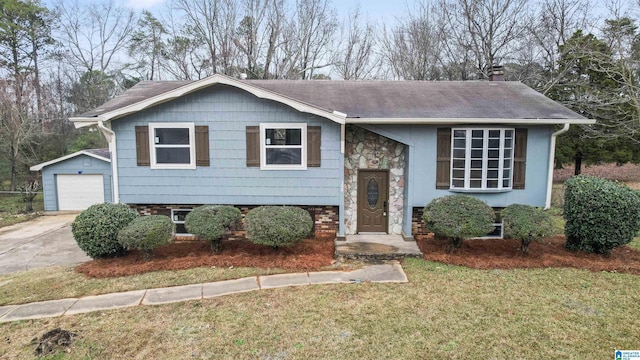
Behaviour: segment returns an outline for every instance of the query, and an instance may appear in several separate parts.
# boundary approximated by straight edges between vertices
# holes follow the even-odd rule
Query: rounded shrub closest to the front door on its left
[[[245,217],[247,238],[273,248],[291,246],[313,229],[309,212],[294,206],[260,206]]]

